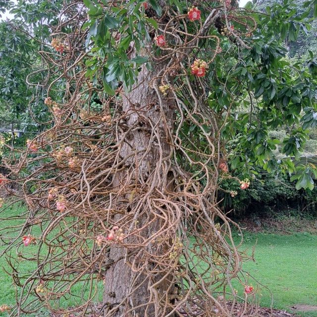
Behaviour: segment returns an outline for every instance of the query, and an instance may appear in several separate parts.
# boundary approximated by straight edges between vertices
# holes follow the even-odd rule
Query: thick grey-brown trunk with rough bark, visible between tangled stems
[[[157,168],[160,168],[161,173],[168,173],[166,168],[161,168],[159,164],[168,160],[171,154],[171,142],[168,140],[170,139],[169,131],[173,126],[175,107],[173,99],[168,98],[168,96],[164,97],[162,94],[160,103],[156,90],[153,88],[153,84],[155,84],[153,79],[166,68],[166,64],[167,61],[157,63],[152,71],[143,67],[138,76],[138,84],[123,97],[123,113],[126,115],[127,126],[128,128],[137,126],[137,129],[134,129],[128,135],[127,141],[120,151],[122,158],[134,154],[126,161],[126,168],[129,168],[130,177],[131,170],[134,174],[131,177],[131,184],[140,184],[141,180],[148,181],[150,185],[153,184],[156,180],[153,179],[150,182],[149,180],[153,177],[153,171]],[[120,172],[120,175],[116,175],[116,178],[117,185],[120,186],[121,184],[122,186],[126,179],[126,172]],[[122,215],[118,215],[118,219],[120,217]],[[151,215],[138,217],[138,227],[151,221],[154,215],[152,219],[151,217]],[[141,232],[142,237],[151,237],[159,230],[160,225],[160,220],[153,221]],[[139,255],[140,252],[142,253],[142,250],[134,251]],[[167,294],[172,291],[172,276],[163,279],[161,283],[155,286],[156,298],[154,298],[153,289],[150,292],[151,285],[159,281],[165,275],[165,272],[159,272],[155,277],[149,277],[146,273],[147,270],[133,271],[131,269],[131,263],[133,262],[134,267],[138,267],[138,264],[144,266],[142,256],[140,256],[141,263],[138,263],[135,256],[125,258],[126,252],[126,248],[120,246],[113,245],[110,248],[108,261],[113,261],[113,265],[106,272],[104,303],[108,306],[113,305],[109,307],[110,310],[115,308],[118,303],[123,302],[124,304],[120,305],[115,313],[109,309],[106,310],[104,316],[163,317],[167,315],[168,309],[166,310],[166,307],[165,310],[162,308],[162,302],[164,298],[166,302]],[[153,267],[151,263],[147,265]],[[151,303],[149,304],[149,302]]]

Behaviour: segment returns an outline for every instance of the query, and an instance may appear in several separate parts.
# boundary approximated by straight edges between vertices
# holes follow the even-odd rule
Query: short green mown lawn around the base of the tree
[[[6,214],[19,214],[24,207],[11,208]],[[0,213],[0,217],[4,214]],[[16,224],[18,220],[10,223],[1,221],[0,226]],[[255,262],[243,264],[243,269],[250,272],[262,284],[267,286],[273,294],[273,308],[291,311],[291,307],[298,304],[317,305],[317,236],[308,233],[295,233],[292,235],[276,234],[250,234],[245,233],[245,242],[242,249],[250,253],[257,243]],[[0,252],[3,250],[0,243]],[[36,248],[36,246],[31,246]],[[32,271],[34,264],[24,262],[24,270]],[[11,278],[4,272],[8,267],[5,259],[0,258],[0,305],[14,305],[15,296]],[[248,283],[256,286],[256,282],[249,278]],[[234,283],[236,284],[236,283]],[[238,292],[243,293],[242,286],[235,285]],[[261,306],[270,307],[271,295],[264,287],[257,291]],[[73,303],[63,303],[63,306]],[[315,312],[299,312],[298,316],[317,317]],[[7,313],[0,313],[6,316]],[[36,314],[38,317],[48,316],[47,313]]]

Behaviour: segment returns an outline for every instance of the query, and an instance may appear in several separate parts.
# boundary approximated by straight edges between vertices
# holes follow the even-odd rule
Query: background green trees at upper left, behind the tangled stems
[[[61,4],[0,2],[2,11],[14,14],[0,21],[0,127],[41,132],[51,118],[44,105],[47,74],[39,53],[49,46],[50,25],[57,23]]]

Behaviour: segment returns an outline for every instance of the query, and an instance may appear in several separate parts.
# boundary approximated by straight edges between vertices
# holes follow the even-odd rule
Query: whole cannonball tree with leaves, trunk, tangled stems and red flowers
[[[45,12],[48,1],[38,2]],[[241,270],[217,193],[228,178],[232,199],[249,190],[257,166],[314,186],[314,166],[275,159],[267,131],[286,125],[283,151],[298,157],[316,124],[314,55],[292,64],[282,45],[316,1],[296,20],[287,0],[267,13],[234,0],[57,2],[43,63],[28,76],[47,90],[51,122],[5,161],[11,174],[1,182],[21,184],[28,206],[23,223],[1,228],[16,285],[11,316],[43,306],[75,316],[232,316],[239,299],[251,300],[252,314],[256,283]],[[25,23],[34,38],[39,19]],[[41,83],[32,80],[39,72]]]

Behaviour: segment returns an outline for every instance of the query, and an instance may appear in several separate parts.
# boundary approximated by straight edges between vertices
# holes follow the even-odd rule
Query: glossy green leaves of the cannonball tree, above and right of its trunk
[[[131,7],[113,9],[111,15],[105,14],[102,5],[94,1],[87,0],[85,3],[89,8],[90,21],[84,26],[89,28],[88,39],[95,46],[94,57],[86,62],[89,66],[87,76],[97,83],[98,71],[103,70],[104,88],[113,95],[118,81],[127,87],[133,84],[137,66],[146,59],[146,56],[126,59],[125,51],[130,42],[133,40],[140,51],[144,45],[141,39],[150,41],[145,25],[150,24],[155,29],[157,25],[154,19],[142,16],[139,10],[141,3],[134,7],[131,2]],[[180,12],[187,10],[187,5],[182,2],[171,0],[170,4],[176,5]],[[211,63],[206,89],[210,90],[208,104],[218,115],[219,125],[222,119],[226,119],[221,129],[224,142],[230,142],[238,135],[235,147],[228,151],[228,163],[232,170],[249,176],[257,174],[256,166],[259,165],[269,172],[296,170],[290,160],[278,163],[273,152],[279,141],[272,140],[268,133],[286,124],[287,136],[282,140],[282,153],[299,158],[307,140],[306,129],[314,127],[317,122],[317,64],[314,54],[309,55],[307,60],[294,63],[286,57],[287,51],[283,49],[286,38],[295,41],[300,31],[309,27],[307,16],[313,15],[315,9],[312,4],[307,1],[305,9],[298,11],[296,3],[284,1],[282,4],[275,3],[269,15],[250,13],[257,22],[257,28],[253,37],[244,41],[251,49],[239,49],[227,37],[220,37],[225,53],[216,55]],[[160,15],[159,5],[154,8]],[[126,16],[129,10],[132,14]],[[109,30],[120,32],[118,43],[113,41]],[[211,35],[219,36],[216,29],[211,31]],[[207,40],[204,46],[214,46],[213,40]],[[204,51],[197,56],[208,60],[212,58],[212,53],[209,55]],[[132,68],[132,64],[136,66]],[[188,136],[193,136],[201,141],[201,149],[206,147],[207,143],[198,127],[185,124],[183,131],[184,142],[187,142]],[[192,142],[188,146],[190,144]],[[314,173],[314,169],[312,165],[297,168],[298,175],[294,177],[297,177],[298,188],[313,188],[311,173]]]

